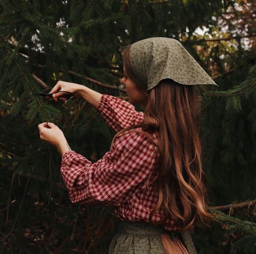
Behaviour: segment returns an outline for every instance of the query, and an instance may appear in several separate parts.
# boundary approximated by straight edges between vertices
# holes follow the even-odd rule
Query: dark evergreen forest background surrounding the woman
[[[92,162],[114,131],[80,98],[32,93],[64,80],[127,100],[122,49],[158,36],[179,40],[219,85],[200,86],[212,222],[192,232],[196,249],[256,253],[255,24],[252,0],[0,0],[1,253],[107,253],[112,208],[69,201],[60,154],[37,125],[58,125]]]

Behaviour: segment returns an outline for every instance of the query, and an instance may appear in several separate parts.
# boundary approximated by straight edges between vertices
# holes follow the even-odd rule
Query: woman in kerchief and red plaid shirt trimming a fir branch
[[[118,132],[102,159],[92,164],[72,151],[53,123],[38,125],[40,137],[62,155],[71,202],[114,207],[119,223],[109,253],[196,253],[189,231],[210,214],[192,85],[215,83],[175,39],[138,41],[123,58],[122,83],[144,113],[75,83],[59,81],[50,92],[79,95]]]

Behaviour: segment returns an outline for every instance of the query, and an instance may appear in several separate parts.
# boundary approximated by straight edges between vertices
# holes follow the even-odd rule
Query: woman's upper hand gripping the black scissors
[[[80,89],[81,85],[76,84],[76,83],[71,83],[71,82],[66,82],[66,81],[58,81],[57,84],[51,89],[49,94],[56,93],[56,91],[69,91],[70,93],[73,94],[73,97],[77,97],[78,94],[76,94],[77,90]],[[58,100],[60,101],[66,101],[67,98],[62,97],[63,95],[66,95],[66,93],[57,93],[53,94],[52,98],[56,102]],[[47,96],[46,98],[50,98]]]

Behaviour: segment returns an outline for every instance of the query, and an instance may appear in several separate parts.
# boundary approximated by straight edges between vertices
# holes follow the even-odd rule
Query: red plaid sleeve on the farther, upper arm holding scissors
[[[144,122],[143,112],[136,111],[131,103],[112,95],[103,94],[97,110],[106,124],[115,131]]]

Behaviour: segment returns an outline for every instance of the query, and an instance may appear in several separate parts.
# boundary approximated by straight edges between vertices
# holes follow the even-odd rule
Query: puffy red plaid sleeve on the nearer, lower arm
[[[60,172],[72,203],[120,206],[144,188],[156,156],[149,138],[130,131],[117,138],[96,163],[75,151],[64,153]]]

